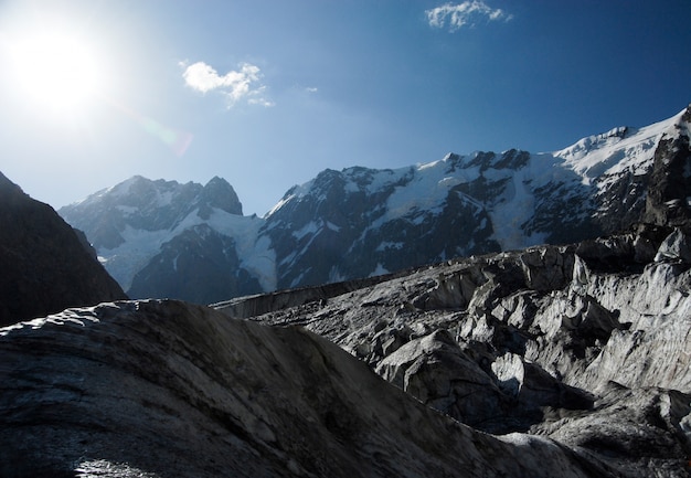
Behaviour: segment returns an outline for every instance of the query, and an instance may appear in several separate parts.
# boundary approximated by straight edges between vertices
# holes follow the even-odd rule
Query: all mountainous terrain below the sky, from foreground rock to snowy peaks
[[[328,277],[212,306],[127,300],[0,176],[0,476],[688,477],[689,119],[325,171],[262,219],[219,178],[82,204],[130,291]]]

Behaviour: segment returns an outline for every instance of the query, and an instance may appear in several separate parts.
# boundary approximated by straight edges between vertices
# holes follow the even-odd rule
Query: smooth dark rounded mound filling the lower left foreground
[[[299,327],[177,301],[0,329],[3,477],[614,476],[476,432]]]

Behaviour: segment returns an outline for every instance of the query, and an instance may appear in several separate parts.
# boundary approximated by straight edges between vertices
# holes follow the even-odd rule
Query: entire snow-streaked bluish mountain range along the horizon
[[[132,178],[60,212],[130,296],[206,304],[683,219],[690,118],[684,110],[548,153],[326,170],[264,217],[242,216],[219,178],[205,187]]]

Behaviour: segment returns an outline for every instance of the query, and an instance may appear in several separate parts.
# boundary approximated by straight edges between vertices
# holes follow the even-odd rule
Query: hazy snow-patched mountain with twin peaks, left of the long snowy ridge
[[[202,187],[135,177],[60,214],[86,233],[106,269],[136,297],[208,302],[275,288],[273,252],[257,241],[263,221],[242,215],[223,179]]]

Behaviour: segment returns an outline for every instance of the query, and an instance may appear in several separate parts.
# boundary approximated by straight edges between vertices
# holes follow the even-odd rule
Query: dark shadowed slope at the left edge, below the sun
[[[0,173],[0,326],[125,298],[81,232]]]

